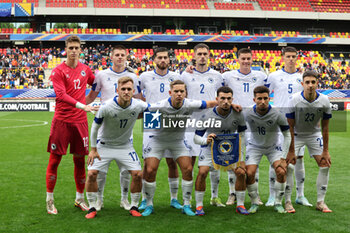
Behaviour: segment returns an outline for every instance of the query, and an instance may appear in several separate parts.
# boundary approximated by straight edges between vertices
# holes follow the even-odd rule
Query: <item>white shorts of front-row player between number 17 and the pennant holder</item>
[[[190,157],[190,149],[187,147],[185,140],[174,140],[170,142],[159,141],[149,137],[148,144],[144,146],[143,158],[155,157],[159,160],[162,158],[172,158],[175,161],[182,156]]]

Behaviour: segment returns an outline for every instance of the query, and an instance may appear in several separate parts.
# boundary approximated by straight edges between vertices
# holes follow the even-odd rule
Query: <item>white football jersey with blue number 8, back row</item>
[[[156,103],[169,97],[170,83],[180,79],[180,75],[168,71],[164,76],[156,73],[156,70],[144,72],[140,75],[140,89],[148,103]]]

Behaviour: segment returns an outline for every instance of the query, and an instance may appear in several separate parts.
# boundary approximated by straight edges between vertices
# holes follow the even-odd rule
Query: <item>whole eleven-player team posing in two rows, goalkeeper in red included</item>
[[[238,130],[241,137],[244,135],[243,129],[245,129],[246,124],[248,128],[253,127],[253,129],[257,129],[250,129],[243,137],[246,139],[242,140],[244,141],[242,148],[246,145],[246,161],[239,162],[235,169],[228,172],[230,193],[226,204],[233,205],[235,199],[237,199],[237,212],[248,214],[257,211],[260,203],[257,182],[255,182],[258,180],[257,165],[262,154],[265,154],[268,155],[272,164],[270,168],[270,197],[266,205],[275,206],[280,213],[285,211],[295,212],[291,203],[295,165],[297,180],[296,202],[310,206],[311,204],[307,201],[303,192],[305,179],[302,159],[303,143],[307,142],[309,151],[310,148],[312,151],[310,154],[320,167],[317,178],[318,198],[316,208],[323,212],[331,211],[324,203],[330,167],[330,155],[328,153],[330,104],[327,97],[316,92],[317,74],[305,72],[302,78],[301,74],[296,72],[297,51],[295,48],[287,47],[283,50],[283,58],[286,64],[284,69],[274,72],[268,77],[262,72],[251,70],[252,54],[249,49],[241,49],[238,52],[240,70],[226,72],[221,75],[207,67],[209,59],[208,46],[205,44],[196,45],[194,48],[195,66],[189,67],[186,72],[179,76],[176,73],[169,72],[167,69],[169,64],[168,50],[158,48],[154,52],[156,69],[152,72],[143,73],[138,79],[135,74],[129,72],[125,67],[127,54],[123,46],[117,46],[113,49],[113,67],[99,72],[96,78],[88,67],[78,62],[79,50],[79,38],[75,36],[69,37],[66,41],[67,61],[54,69],[51,75],[57,98],[56,112],[48,143],[48,152],[50,152],[46,174],[48,213],[57,214],[53,201],[53,190],[57,179],[57,167],[62,155],[66,154],[68,144],[71,145],[70,153],[73,154],[75,164],[74,176],[77,186],[75,205],[83,210],[89,210],[86,215],[87,218],[95,217],[96,210],[100,210],[103,207],[104,184],[111,160],[117,160],[121,170],[121,207],[129,210],[133,216],[141,216],[139,212],[141,209],[145,209],[142,213],[143,216],[148,216],[153,212],[153,195],[156,187],[155,177],[159,161],[163,156],[167,159],[169,167],[172,207],[181,209],[187,215],[203,215],[205,178],[208,172],[210,173],[212,184],[211,204],[224,206],[217,196],[220,173],[218,170],[212,169],[211,160],[209,159],[211,155],[208,150],[197,145],[201,144],[204,146],[204,144],[208,144],[219,132],[210,132],[210,129],[198,129],[195,134],[192,132],[192,135],[190,135],[191,132],[187,132],[186,137],[184,137],[184,132],[181,130],[170,132],[155,130],[144,133],[143,157],[145,160],[143,171],[141,171],[141,167],[138,167],[140,166],[139,159],[132,148],[130,137],[127,137],[128,134],[131,136],[132,126],[138,115],[136,113],[143,112],[147,108],[160,109],[161,112],[165,111],[168,114],[184,111],[183,113],[188,115],[189,112],[192,114],[196,108],[214,106],[213,109],[205,112],[194,112],[192,118],[199,119],[203,115],[209,116],[211,114],[212,117],[218,117],[219,119],[221,117],[221,120],[225,119],[223,122],[226,123],[225,117],[232,115],[232,118],[235,119],[233,122],[237,124],[239,119],[244,119],[243,115],[246,115],[249,111],[251,112],[251,116],[249,116],[252,118],[266,118],[267,116],[273,118],[273,120],[268,120],[264,125],[250,125],[249,120],[247,121],[246,119],[245,121],[241,120],[242,124],[237,124],[237,128],[233,127],[232,124],[223,126],[222,130],[224,130],[225,134]],[[119,83],[120,80],[127,81]],[[171,83],[172,87],[170,87]],[[92,85],[92,91],[85,98],[86,84]],[[223,85],[227,87],[222,87]],[[270,90],[274,90],[274,105],[280,107],[278,110],[277,108],[271,108],[269,105],[269,89],[264,88],[264,85],[268,86]],[[304,91],[300,92],[302,90]],[[116,91],[119,92],[117,96]],[[150,105],[148,106],[144,102],[132,98],[133,91],[135,91],[135,98],[145,98]],[[103,105],[96,115],[91,130],[92,149],[88,158],[89,175],[86,183],[87,198],[90,204],[88,207],[84,201],[84,155],[88,154],[88,129],[85,112],[94,111],[97,108],[85,105],[85,103],[91,103],[100,92]],[[141,95],[141,92],[143,95]],[[293,94],[298,97],[296,98],[295,106],[290,105],[288,108],[283,108],[287,106],[287,103],[292,102],[289,101],[289,97]],[[300,113],[304,114],[302,117],[298,115],[300,110],[299,104],[302,105],[301,109],[309,109]],[[251,108],[250,106],[252,105],[255,107]],[[236,112],[239,111],[240,106],[245,109],[243,114]],[[129,112],[133,108],[137,111]],[[291,111],[293,109],[294,111]],[[288,146],[290,135],[287,118],[284,116],[286,113],[289,114],[288,123],[293,129],[290,130],[292,138],[290,147]],[[300,119],[303,119],[304,122],[300,122]],[[317,126],[320,120],[322,121],[322,133]],[[246,123],[243,124],[243,122]],[[259,122],[259,120],[252,120],[252,124],[256,122]],[[100,125],[102,126],[99,127]],[[275,128],[271,130],[272,128],[270,127]],[[276,127],[280,128],[283,134],[277,133]],[[298,132],[296,136],[294,136],[294,132]],[[253,135],[256,133],[259,136],[254,138],[255,136]],[[269,135],[271,133],[275,136]],[[301,138],[305,135],[310,136],[309,141]],[[295,159],[294,138],[298,159]],[[314,138],[314,140],[311,138]],[[269,140],[265,141],[265,139]],[[99,141],[97,145],[96,140]],[[174,141],[178,143],[174,143]],[[115,150],[122,152],[118,154],[124,154],[124,156],[113,157],[116,155],[116,153],[113,153]],[[287,153],[287,151],[289,152]],[[282,156],[282,152],[286,156]],[[94,159],[98,158],[98,155],[101,156],[101,160]],[[196,156],[199,156],[199,173],[195,183],[196,213],[194,213],[190,207],[190,199],[193,188],[192,170]],[[177,200],[179,175],[176,163],[179,164],[182,172],[183,206]],[[130,186],[131,205],[128,202],[130,174],[133,178]],[[287,178],[287,184],[286,177],[289,177],[289,179]],[[141,184],[143,184],[143,201],[138,208]],[[252,198],[252,206],[249,211],[244,208],[244,203],[242,203],[246,188],[249,196]],[[284,192],[286,199],[285,209],[281,204]]]

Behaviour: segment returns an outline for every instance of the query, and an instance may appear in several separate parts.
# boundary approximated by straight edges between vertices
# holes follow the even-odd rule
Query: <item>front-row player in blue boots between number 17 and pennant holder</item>
[[[171,97],[151,104],[151,111],[159,112],[155,114],[163,115],[163,119],[168,117],[170,122],[180,122],[183,117],[190,116],[193,111],[212,108],[216,101],[202,101],[186,99],[186,85],[181,80],[171,82],[169,94]],[[156,116],[153,115],[155,118]],[[187,118],[185,118],[187,119]],[[186,120],[184,120],[186,121]],[[165,127],[155,129],[150,132],[150,138],[144,150],[146,169],[144,170],[144,191],[146,194],[147,207],[142,213],[143,216],[149,216],[153,213],[153,197],[156,190],[156,175],[160,160],[165,152],[169,152],[173,160],[176,161],[182,173],[182,195],[184,206],[182,212],[189,216],[195,213],[191,210],[190,199],[193,189],[192,180],[192,159],[190,151],[185,143],[185,127]]]

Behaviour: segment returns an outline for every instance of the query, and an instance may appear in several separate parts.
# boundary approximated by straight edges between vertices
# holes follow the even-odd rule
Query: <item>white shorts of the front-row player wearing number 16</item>
[[[263,155],[266,155],[267,159],[272,165],[275,161],[280,160],[283,155],[281,146],[272,146],[264,149],[248,144],[246,150],[246,165],[259,165]]]

